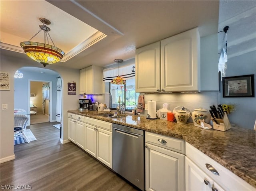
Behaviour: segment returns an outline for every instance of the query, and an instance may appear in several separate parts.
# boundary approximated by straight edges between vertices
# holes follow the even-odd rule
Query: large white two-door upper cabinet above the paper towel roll
[[[200,91],[198,28],[136,49],[136,92]]]

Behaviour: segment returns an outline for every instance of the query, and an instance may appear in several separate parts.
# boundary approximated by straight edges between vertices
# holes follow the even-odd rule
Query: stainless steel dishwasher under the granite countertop
[[[145,190],[144,131],[113,124],[113,170]]]

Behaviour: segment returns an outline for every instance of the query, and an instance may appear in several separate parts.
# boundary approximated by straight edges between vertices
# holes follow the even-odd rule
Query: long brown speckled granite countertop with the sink
[[[177,124],[167,120],[149,120],[140,115],[112,119],[98,116],[102,113],[98,111],[70,110],[68,112],[183,139],[256,187],[256,132],[254,130],[239,128],[232,124],[229,130],[222,132],[213,129],[205,130],[194,126],[193,123]]]

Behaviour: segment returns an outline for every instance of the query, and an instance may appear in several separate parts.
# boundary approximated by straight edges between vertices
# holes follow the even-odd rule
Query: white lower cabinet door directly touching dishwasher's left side
[[[97,128],[97,159],[112,169],[112,132]]]

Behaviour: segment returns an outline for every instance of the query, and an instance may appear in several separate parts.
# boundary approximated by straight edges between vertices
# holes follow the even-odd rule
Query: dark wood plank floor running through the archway
[[[2,185],[32,191],[137,190],[71,142],[60,144],[56,123],[30,126],[37,140],[14,146],[16,159],[0,164],[1,190]]]

